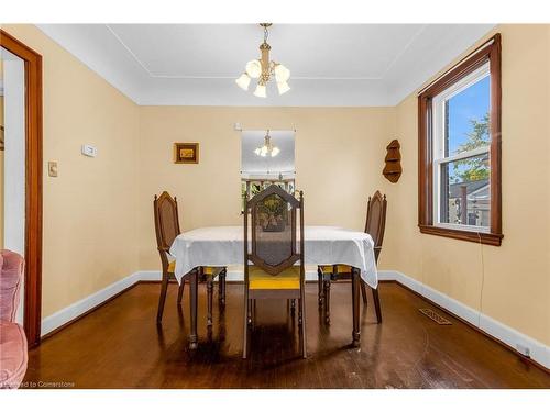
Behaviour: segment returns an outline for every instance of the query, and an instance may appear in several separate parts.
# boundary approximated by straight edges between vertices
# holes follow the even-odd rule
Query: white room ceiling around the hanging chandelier
[[[267,99],[234,79],[257,58],[255,24],[42,24],[38,27],[139,104],[394,105],[492,24],[274,24],[272,59],[292,90]]]

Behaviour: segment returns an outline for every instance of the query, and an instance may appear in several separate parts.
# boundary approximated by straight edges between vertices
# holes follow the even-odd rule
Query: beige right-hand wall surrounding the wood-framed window
[[[501,247],[420,234],[417,100],[396,108],[405,169],[387,186],[384,263],[550,344],[550,26],[502,25],[503,232]],[[484,278],[484,280],[483,280]]]

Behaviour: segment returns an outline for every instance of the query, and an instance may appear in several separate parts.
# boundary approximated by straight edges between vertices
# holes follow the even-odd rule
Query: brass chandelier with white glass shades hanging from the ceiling
[[[279,63],[270,60],[270,51],[272,49],[272,46],[267,44],[267,36],[270,35],[267,27],[270,27],[272,23],[261,23],[260,25],[264,27],[264,43],[260,45],[262,57],[246,63],[245,71],[235,80],[235,82],[241,89],[249,90],[251,80],[257,79],[254,96],[265,98],[267,97],[266,85],[273,79],[273,77],[275,77],[278,93],[284,94],[290,90],[287,82],[290,78],[290,70]]]

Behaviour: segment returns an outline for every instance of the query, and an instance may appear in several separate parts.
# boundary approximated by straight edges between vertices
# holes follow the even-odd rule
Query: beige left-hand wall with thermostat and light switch
[[[139,108],[36,27],[2,29],[43,56],[47,316],[138,270]],[[97,158],[80,154],[84,143]]]

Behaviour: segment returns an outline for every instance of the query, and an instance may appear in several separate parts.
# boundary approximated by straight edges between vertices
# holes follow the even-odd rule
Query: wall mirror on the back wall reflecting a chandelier
[[[295,131],[243,131],[241,138],[241,190],[249,199],[275,183],[295,191]]]

